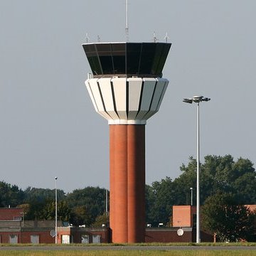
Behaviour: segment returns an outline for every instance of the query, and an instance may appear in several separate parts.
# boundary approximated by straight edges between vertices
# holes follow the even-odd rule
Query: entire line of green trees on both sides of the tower
[[[171,225],[172,206],[190,205],[191,188],[195,192],[193,204],[196,204],[196,159],[190,157],[188,164],[182,164],[180,169],[181,175],[174,180],[166,177],[146,185],[146,223],[152,226],[159,223]],[[235,161],[230,155],[208,155],[201,163],[200,170],[203,228],[211,233],[217,232],[222,240],[235,240],[241,237],[242,232],[255,233],[255,230],[242,228],[239,235],[229,235],[227,238],[227,232],[221,229],[223,223],[220,221],[225,220],[227,223],[229,219],[228,223],[253,226],[255,215],[245,207],[256,204],[256,172],[252,162],[242,158]],[[107,224],[105,193],[105,188],[90,186],[67,194],[58,189],[58,219],[73,225]],[[28,187],[23,191],[16,185],[1,181],[0,206],[23,208],[26,220],[52,220],[55,218],[55,190]],[[240,219],[235,220],[238,215]],[[215,224],[213,220],[216,220]],[[240,229],[232,226],[229,228],[230,233],[234,233],[232,230],[235,228]]]

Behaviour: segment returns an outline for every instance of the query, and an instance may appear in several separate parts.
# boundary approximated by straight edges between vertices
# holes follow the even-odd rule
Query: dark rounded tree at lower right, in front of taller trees
[[[220,241],[248,240],[254,233],[250,210],[236,203],[230,193],[206,199],[202,208],[202,228],[216,233]]]

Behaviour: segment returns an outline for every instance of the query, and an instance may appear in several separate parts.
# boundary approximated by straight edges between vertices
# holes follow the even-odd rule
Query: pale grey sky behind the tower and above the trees
[[[129,41],[173,43],[169,87],[146,124],[146,183],[181,174],[196,156],[196,105],[203,95],[201,159],[231,154],[256,163],[256,1],[129,0]],[[125,41],[125,0],[0,1],[1,180],[65,192],[109,188],[109,127],[84,81],[82,43]]]

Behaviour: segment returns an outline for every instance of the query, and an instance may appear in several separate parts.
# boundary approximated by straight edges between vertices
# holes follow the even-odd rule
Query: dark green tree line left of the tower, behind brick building
[[[105,188],[88,186],[72,193],[57,190],[58,220],[90,227],[105,213]],[[55,219],[55,189],[31,188],[0,182],[0,207],[23,209],[25,220]]]

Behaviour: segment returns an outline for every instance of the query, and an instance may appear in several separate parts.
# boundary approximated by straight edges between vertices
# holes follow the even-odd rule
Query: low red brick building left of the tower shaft
[[[0,208],[0,243],[55,243],[55,220],[24,220],[22,208]],[[63,227],[58,243],[110,242],[109,228]]]

